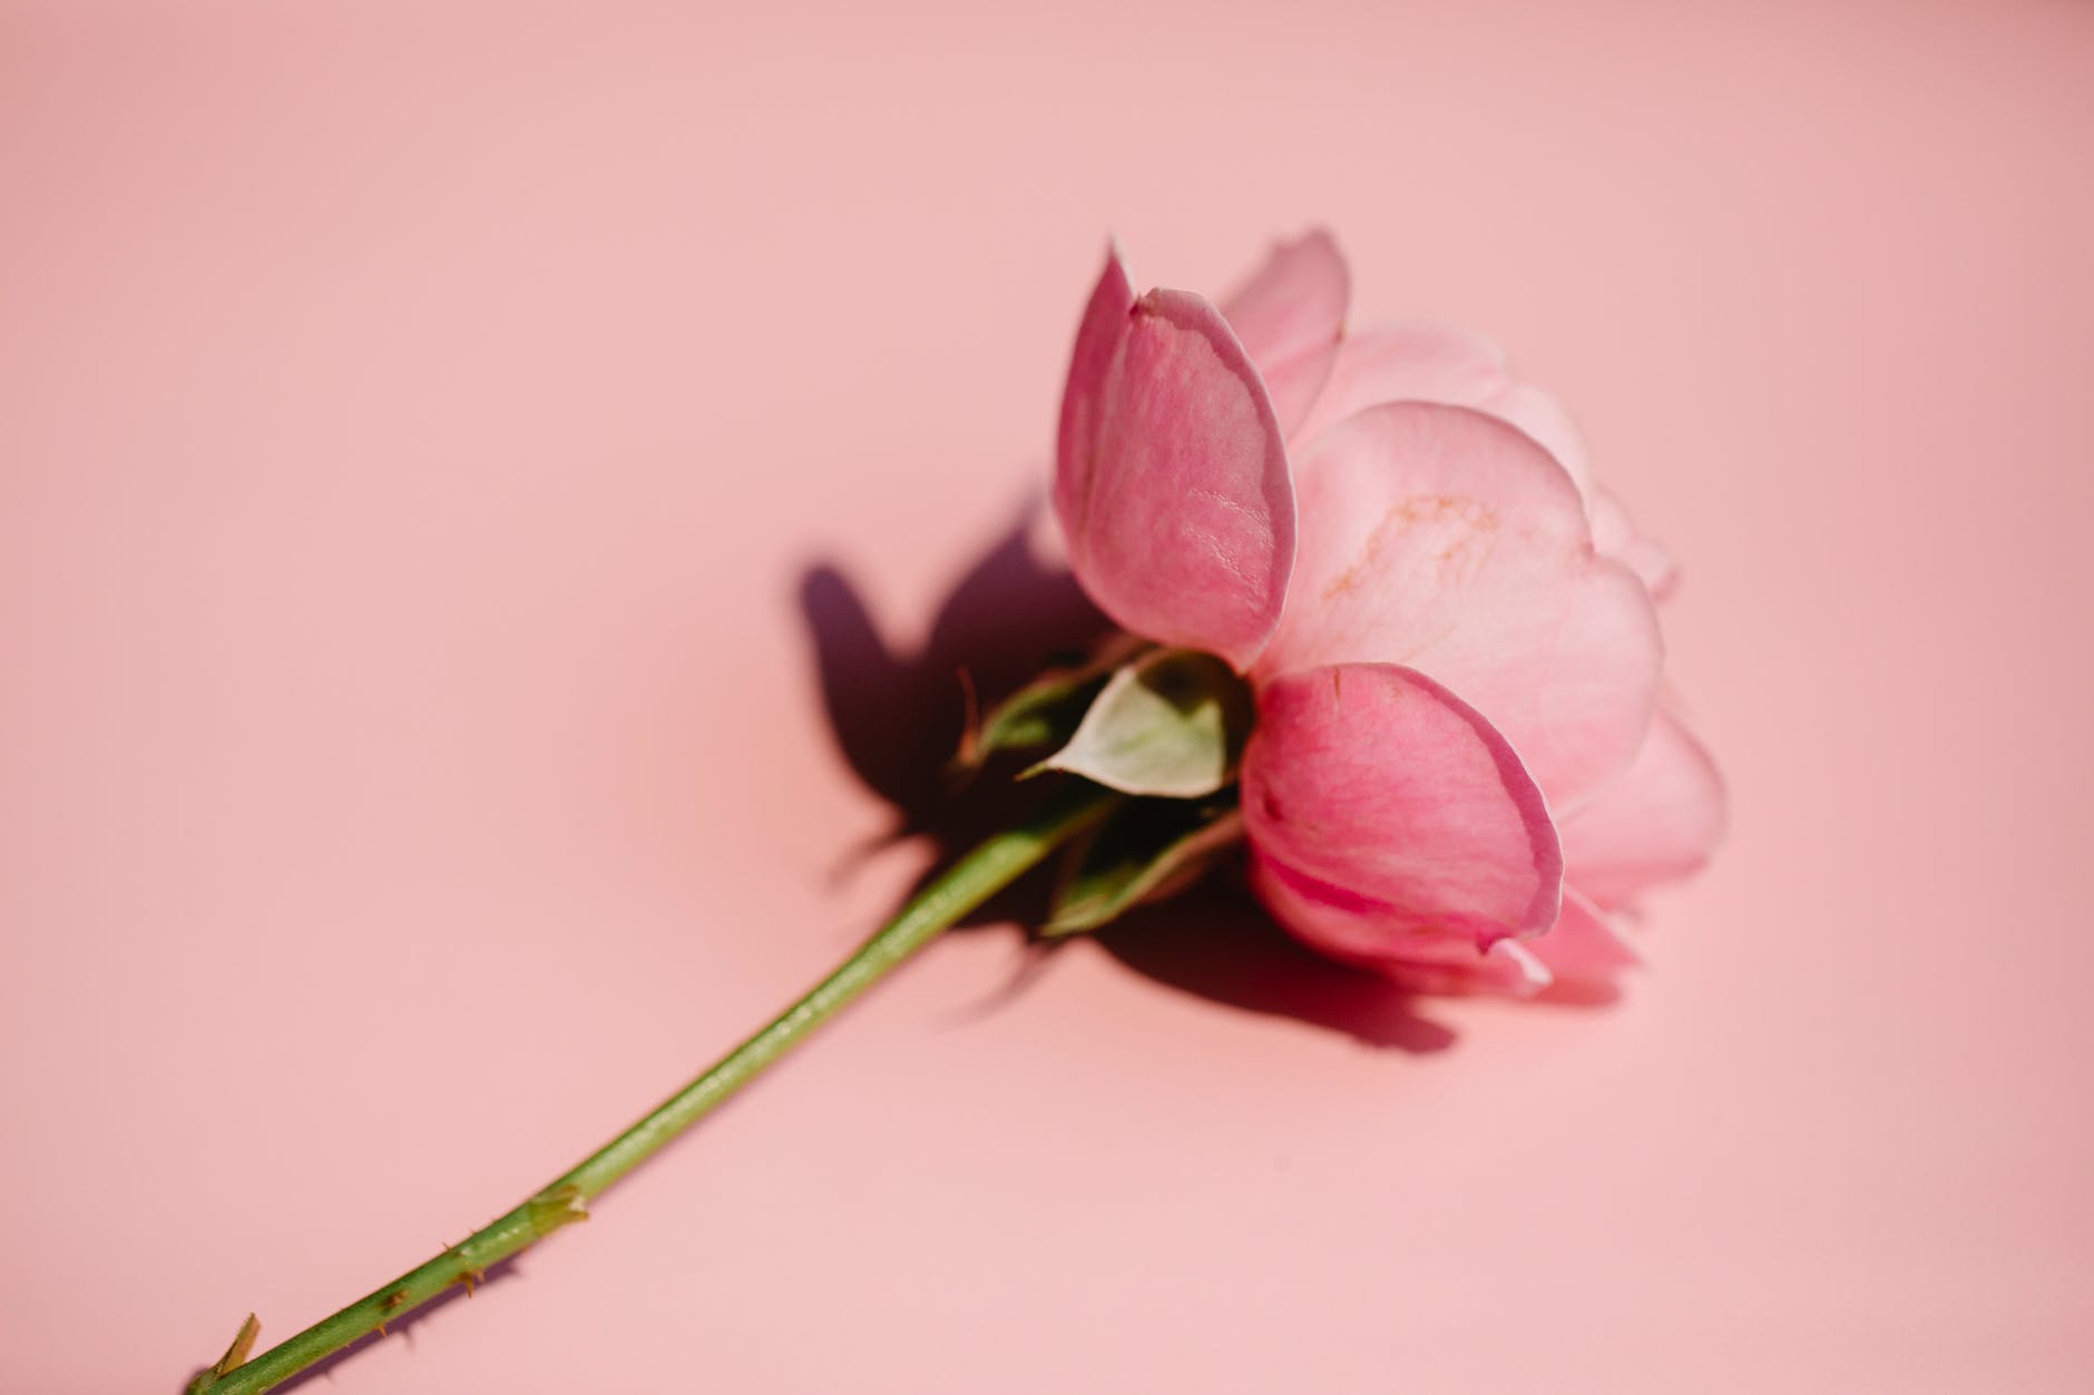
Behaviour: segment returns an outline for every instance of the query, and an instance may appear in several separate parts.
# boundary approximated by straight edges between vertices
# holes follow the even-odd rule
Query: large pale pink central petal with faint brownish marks
[[[1558,811],[1627,769],[1663,647],[1642,582],[1594,553],[1577,488],[1524,434],[1399,402],[1300,469],[1300,563],[1261,674],[1407,664],[1489,714]]]

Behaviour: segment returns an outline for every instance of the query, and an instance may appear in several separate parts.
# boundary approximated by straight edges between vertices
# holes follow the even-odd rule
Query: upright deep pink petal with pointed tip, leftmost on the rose
[[[1122,628],[1248,668],[1294,568],[1294,486],[1271,402],[1221,312],[1187,291],[1135,302],[1095,371],[1112,304],[1101,283],[1062,404],[1055,509],[1070,568]]]

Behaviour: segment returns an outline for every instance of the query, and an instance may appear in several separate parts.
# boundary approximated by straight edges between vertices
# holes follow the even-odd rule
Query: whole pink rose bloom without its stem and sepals
[[[1250,681],[1250,878],[1292,934],[1420,991],[1604,987],[1612,915],[1723,825],[1658,693],[1671,566],[1491,346],[1346,335],[1346,295],[1323,233],[1219,310],[1108,256],[1062,400],[1070,566]]]

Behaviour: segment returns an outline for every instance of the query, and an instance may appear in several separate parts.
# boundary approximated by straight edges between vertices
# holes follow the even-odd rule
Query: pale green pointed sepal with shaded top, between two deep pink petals
[[[1250,687],[1212,654],[1152,649],[1097,691],[1068,744],[1032,771],[1194,800],[1235,779],[1250,735]]]

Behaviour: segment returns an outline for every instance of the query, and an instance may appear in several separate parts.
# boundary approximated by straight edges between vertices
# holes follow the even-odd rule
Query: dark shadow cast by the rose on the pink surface
[[[894,806],[892,832],[859,848],[861,857],[921,836],[936,844],[942,863],[1039,798],[1009,779],[1011,762],[990,765],[963,790],[946,779],[967,716],[967,683],[993,702],[1049,662],[1087,651],[1112,628],[1068,572],[1032,555],[1028,517],[1030,511],[955,582],[917,654],[888,647],[838,568],[817,563],[800,578],[829,727],[859,779]],[[1037,882],[990,901],[967,924],[1039,924]],[[1386,980],[1298,947],[1227,876],[1141,907],[1097,940],[1158,984],[1323,1026],[1365,1045],[1424,1054],[1455,1039]],[[1030,980],[1022,974],[1013,989],[1024,991]]]

